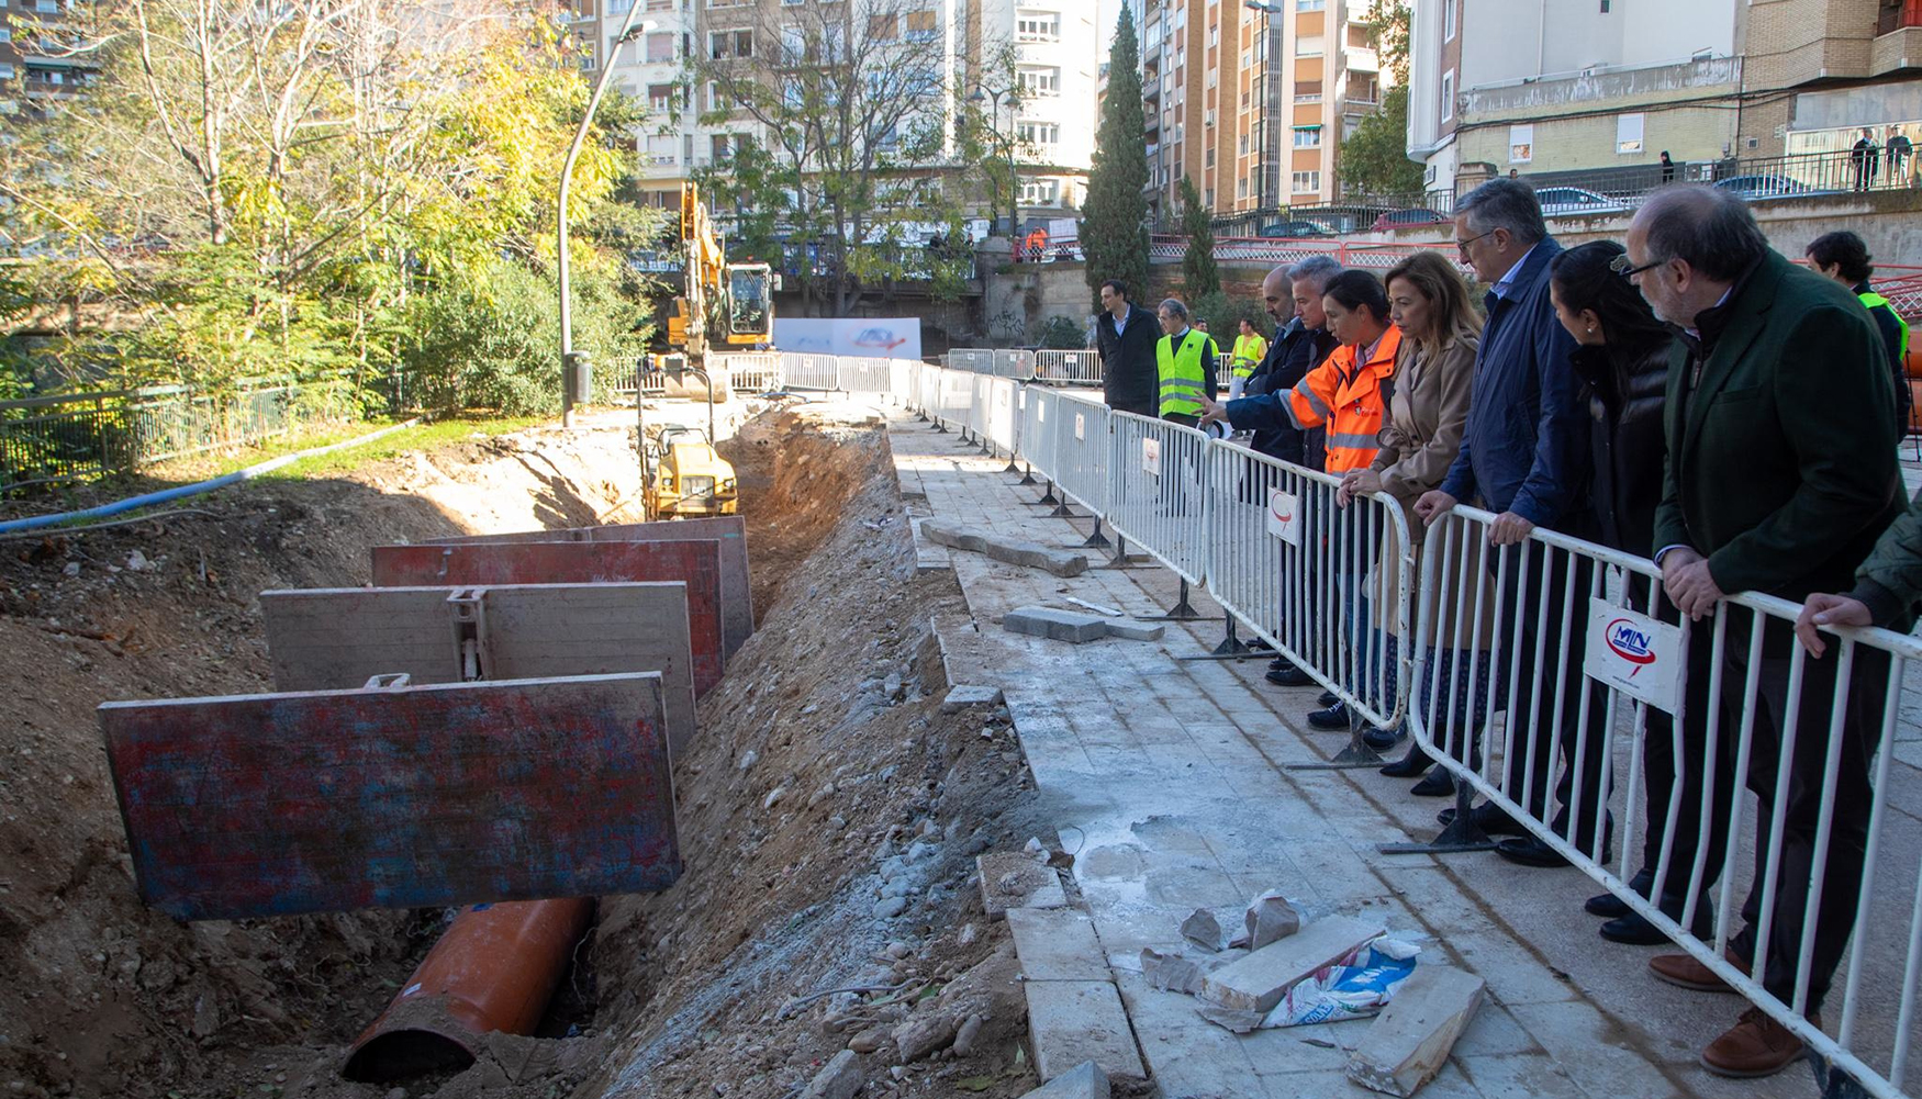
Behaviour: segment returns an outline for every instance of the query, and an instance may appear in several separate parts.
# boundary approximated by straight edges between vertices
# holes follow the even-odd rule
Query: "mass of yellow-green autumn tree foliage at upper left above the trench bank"
[[[67,52],[98,65],[0,150],[12,250],[42,300],[73,300],[35,350],[52,384],[454,379],[488,325],[554,309],[555,171],[588,102],[552,8],[532,0],[125,0]],[[582,344],[646,336],[621,252],[659,219],[615,213],[628,104],[602,106],[575,175]],[[552,325],[550,325],[552,330]],[[423,354],[432,348],[432,355]],[[454,403],[557,402],[557,338],[496,357],[513,384]],[[384,384],[384,382],[381,382]]]

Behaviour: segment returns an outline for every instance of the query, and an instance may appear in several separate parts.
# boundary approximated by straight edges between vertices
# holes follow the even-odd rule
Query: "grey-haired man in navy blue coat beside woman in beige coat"
[[[1515,680],[1495,696],[1515,699],[1507,707],[1503,790],[1532,817],[1545,818],[1549,765],[1559,742],[1563,774],[1555,794],[1561,811],[1551,826],[1605,859],[1607,761],[1601,722],[1607,717],[1601,707],[1589,707],[1586,745],[1576,757],[1582,701],[1589,696],[1582,690],[1582,653],[1593,567],[1568,555],[1555,555],[1551,561],[1540,542],[1528,540],[1536,526],[1586,534],[1574,525],[1586,513],[1589,417],[1568,367],[1574,340],[1555,319],[1555,305],[1549,302],[1549,261],[1561,252],[1561,244],[1541,223],[1536,192],[1526,183],[1497,179],[1455,206],[1455,248],[1490,286],[1488,325],[1476,354],[1461,453],[1442,488],[1424,494],[1415,511],[1422,521],[1434,523],[1455,503],[1476,501],[1499,513],[1490,528],[1490,544],[1518,546],[1486,555],[1490,569],[1503,580],[1497,667],[1513,667],[1515,672]],[[1503,559],[1507,569],[1499,569]],[[1565,599],[1570,594],[1572,599]],[[1566,615],[1565,601],[1572,607]],[[1561,669],[1566,669],[1568,686],[1559,692],[1557,707]],[[1443,817],[1451,818],[1451,811]],[[1513,836],[1497,851],[1515,863],[1565,865],[1561,855],[1493,805],[1476,807],[1474,820],[1488,832]]]

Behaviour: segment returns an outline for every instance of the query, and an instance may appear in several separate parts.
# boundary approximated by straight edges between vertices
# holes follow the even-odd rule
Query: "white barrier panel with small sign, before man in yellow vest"
[[[1134,413],[1111,411],[1109,423],[1107,525],[1182,580],[1201,584],[1207,574],[1201,494],[1207,436]]]

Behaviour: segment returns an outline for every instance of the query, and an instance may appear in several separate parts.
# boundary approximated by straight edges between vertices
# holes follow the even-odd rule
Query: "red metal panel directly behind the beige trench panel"
[[[688,586],[694,694],[721,682],[719,542],[507,542],[375,546],[377,588],[446,584],[607,584],[678,580]]]

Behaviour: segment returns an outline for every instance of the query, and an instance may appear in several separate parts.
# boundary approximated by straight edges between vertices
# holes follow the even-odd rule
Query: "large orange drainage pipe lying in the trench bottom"
[[[379,1084],[467,1068],[482,1034],[530,1034],[592,922],[592,897],[463,909],[340,1074]]]

